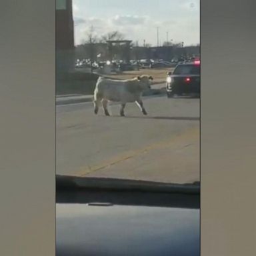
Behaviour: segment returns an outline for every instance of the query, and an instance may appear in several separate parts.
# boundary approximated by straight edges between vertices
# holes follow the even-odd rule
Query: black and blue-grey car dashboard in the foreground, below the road
[[[56,255],[200,255],[199,184],[57,177]]]

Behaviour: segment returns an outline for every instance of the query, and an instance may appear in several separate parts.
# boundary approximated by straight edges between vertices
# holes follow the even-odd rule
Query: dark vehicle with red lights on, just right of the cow
[[[196,93],[200,95],[200,61],[178,64],[173,73],[167,73],[167,97]]]

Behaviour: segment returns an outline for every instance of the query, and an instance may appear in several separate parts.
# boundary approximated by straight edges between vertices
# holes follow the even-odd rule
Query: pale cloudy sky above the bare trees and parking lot
[[[93,25],[101,37],[119,31],[139,45],[164,41],[200,43],[200,0],[73,0],[75,45],[87,39]],[[167,35],[168,33],[168,35]]]

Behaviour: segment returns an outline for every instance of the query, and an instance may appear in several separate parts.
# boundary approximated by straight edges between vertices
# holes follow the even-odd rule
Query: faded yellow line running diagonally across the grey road
[[[151,150],[163,149],[165,147],[175,145],[175,143],[177,143],[177,144],[186,143],[187,144],[187,143],[189,143],[189,141],[191,141],[191,139],[198,139],[198,141],[199,141],[199,128],[189,129],[189,130],[185,131],[185,133],[181,133],[179,135],[171,137],[171,139],[169,141],[161,141],[160,143],[153,143],[153,144],[143,147],[141,149],[127,151],[127,152],[125,152],[121,155],[117,155],[117,157],[113,157],[113,159],[110,159],[109,161],[105,161],[104,163],[101,163],[99,165],[95,165],[93,167],[83,167],[75,174],[75,176],[83,177],[89,173],[93,173],[94,171],[99,171],[101,169],[105,169],[112,165],[116,165],[117,163],[121,163],[128,159],[131,159],[133,157],[137,157],[138,155],[142,155],[143,153],[148,153]]]

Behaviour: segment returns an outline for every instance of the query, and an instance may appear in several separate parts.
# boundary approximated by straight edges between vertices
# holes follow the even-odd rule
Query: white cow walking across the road
[[[143,115],[147,115],[141,95],[143,91],[150,89],[151,75],[141,75],[133,79],[113,80],[105,77],[99,77],[94,90],[94,113],[99,111],[99,103],[102,101],[103,111],[105,115],[109,115],[107,110],[107,102],[115,101],[121,103],[120,115],[124,116],[126,103],[135,102]]]

